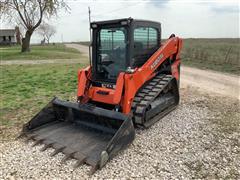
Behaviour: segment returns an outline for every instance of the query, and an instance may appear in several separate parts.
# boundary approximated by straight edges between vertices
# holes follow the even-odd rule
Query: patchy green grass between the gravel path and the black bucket
[[[54,96],[73,99],[77,90],[77,71],[84,64],[43,64],[0,66],[1,125],[22,124]]]

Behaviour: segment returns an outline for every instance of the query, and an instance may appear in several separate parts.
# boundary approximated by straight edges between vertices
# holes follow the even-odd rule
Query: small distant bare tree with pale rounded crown
[[[56,28],[50,24],[43,23],[38,28],[38,34],[43,37],[43,39],[46,39],[48,44],[50,41],[50,38],[56,33]]]

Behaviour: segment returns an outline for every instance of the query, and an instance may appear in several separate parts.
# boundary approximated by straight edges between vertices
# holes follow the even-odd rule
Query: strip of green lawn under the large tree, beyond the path
[[[78,50],[65,47],[63,44],[32,45],[30,53],[21,53],[21,46],[0,46],[0,60],[46,60],[46,59],[79,59]]]

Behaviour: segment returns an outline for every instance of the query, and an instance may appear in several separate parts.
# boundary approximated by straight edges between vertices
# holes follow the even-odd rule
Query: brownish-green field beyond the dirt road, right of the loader
[[[164,40],[163,40],[164,41]],[[89,45],[89,42],[80,42]],[[183,39],[182,64],[240,75],[240,39]]]

